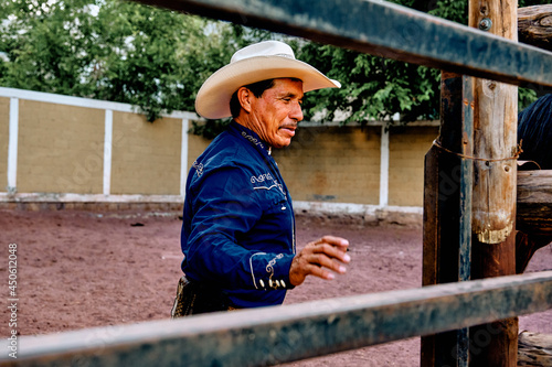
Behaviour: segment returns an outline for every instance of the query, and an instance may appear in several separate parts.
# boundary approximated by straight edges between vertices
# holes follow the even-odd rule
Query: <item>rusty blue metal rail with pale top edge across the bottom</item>
[[[24,336],[13,366],[266,366],[552,307],[552,271]],[[9,364],[6,353],[0,364]]]

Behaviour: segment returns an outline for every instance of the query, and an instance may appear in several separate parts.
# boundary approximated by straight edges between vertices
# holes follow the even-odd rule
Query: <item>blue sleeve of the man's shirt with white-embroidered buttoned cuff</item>
[[[241,245],[263,216],[263,202],[248,177],[238,166],[217,169],[204,173],[189,193],[193,217],[184,249],[187,268],[226,289],[290,289],[293,253]]]

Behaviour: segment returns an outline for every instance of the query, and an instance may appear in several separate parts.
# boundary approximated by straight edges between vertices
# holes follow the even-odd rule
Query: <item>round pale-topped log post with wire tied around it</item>
[[[517,41],[517,1],[470,0],[469,25]],[[474,83],[471,278],[516,273],[517,87]],[[518,320],[470,328],[470,366],[516,367]]]

